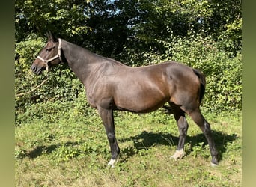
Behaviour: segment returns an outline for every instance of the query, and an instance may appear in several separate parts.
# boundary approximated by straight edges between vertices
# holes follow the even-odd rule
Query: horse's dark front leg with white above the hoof
[[[114,124],[113,110],[106,109],[106,108],[98,108],[98,111],[106,129],[106,135],[109,140],[109,145],[110,145],[110,150],[112,155],[108,165],[114,168],[115,162],[118,161],[120,149],[118,147],[118,141],[115,138],[115,124]]]

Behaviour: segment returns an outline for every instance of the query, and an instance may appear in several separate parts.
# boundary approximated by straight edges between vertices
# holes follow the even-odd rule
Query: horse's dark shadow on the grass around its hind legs
[[[238,137],[236,134],[227,135],[219,131],[213,131],[212,133],[213,139],[216,143],[216,148],[219,151],[219,161],[221,161],[223,153],[227,151],[226,147],[228,143],[232,143],[240,137]],[[179,137],[161,132],[154,133],[143,131],[140,135],[135,135],[130,138],[123,138],[120,141],[133,141],[134,147],[126,147],[124,150],[122,150],[123,154],[130,157],[138,154],[140,150],[147,150],[155,145],[168,145],[170,147],[174,146],[176,148]],[[204,134],[202,133],[195,136],[187,135],[185,144],[186,143],[189,143],[190,145],[189,147],[186,147],[186,155],[192,153],[193,147],[197,146],[199,143],[203,143],[202,147],[208,144]]]

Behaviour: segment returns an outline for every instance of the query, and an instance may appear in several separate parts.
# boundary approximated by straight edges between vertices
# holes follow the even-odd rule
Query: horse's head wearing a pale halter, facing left
[[[47,37],[46,46],[31,65],[33,73],[40,74],[43,70],[48,71],[50,66],[61,63],[61,39],[56,39],[50,32]]]

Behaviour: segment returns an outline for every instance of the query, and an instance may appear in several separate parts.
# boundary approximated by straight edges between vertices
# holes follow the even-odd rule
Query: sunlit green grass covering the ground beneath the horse
[[[221,160],[210,166],[210,151],[198,126],[188,118],[186,156],[174,161],[178,141],[174,117],[115,112],[121,157],[107,168],[109,143],[96,111],[64,114],[16,126],[16,186],[242,186],[240,112],[204,114]]]

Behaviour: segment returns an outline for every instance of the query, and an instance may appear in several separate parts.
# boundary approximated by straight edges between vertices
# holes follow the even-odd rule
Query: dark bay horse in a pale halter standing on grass
[[[185,113],[204,132],[210,147],[211,163],[218,164],[219,153],[212,138],[210,124],[199,105],[204,96],[205,77],[196,69],[174,61],[146,67],[128,67],[110,58],[89,52],[80,46],[48,35],[46,46],[31,65],[40,74],[50,66],[67,63],[85,85],[88,102],[100,114],[111,149],[108,165],[114,167],[120,149],[115,137],[113,111],[146,113],[169,103],[180,132],[174,159],[184,156],[188,130]]]

